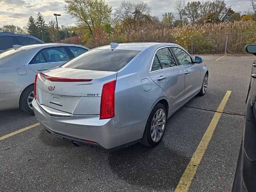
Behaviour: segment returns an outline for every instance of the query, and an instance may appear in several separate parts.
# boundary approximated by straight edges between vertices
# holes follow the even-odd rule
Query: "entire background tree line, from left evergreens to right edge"
[[[152,16],[152,8],[146,2],[122,1],[120,7],[112,10],[105,0],[64,0],[64,10],[76,18],[76,26],[60,26],[60,39],[79,36],[82,43],[100,42],[101,39],[124,40],[125,33],[153,28],[181,28],[186,25],[206,23],[256,20],[256,0],[250,0],[252,12],[242,14],[227,6],[224,0],[185,2],[177,0],[174,12],[162,14],[162,19]],[[14,33],[27,33],[44,42],[58,42],[56,22],[48,24],[38,12],[36,18],[30,16],[24,28],[13,24],[4,25],[0,30]],[[118,34],[118,36],[117,36]]]

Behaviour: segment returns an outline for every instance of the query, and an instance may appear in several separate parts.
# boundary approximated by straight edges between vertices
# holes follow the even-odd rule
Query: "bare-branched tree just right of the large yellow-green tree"
[[[122,1],[121,6],[115,10],[114,16],[121,24],[136,29],[137,26],[151,21],[150,13],[151,7],[146,2],[135,4]]]

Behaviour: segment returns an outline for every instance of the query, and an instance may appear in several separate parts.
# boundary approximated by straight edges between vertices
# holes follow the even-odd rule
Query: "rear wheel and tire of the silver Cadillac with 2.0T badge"
[[[156,116],[160,115],[159,112],[162,114],[160,118],[156,118]],[[164,113],[164,114],[163,114]],[[157,146],[164,136],[164,131],[166,128],[166,109],[162,103],[156,104],[152,109],[148,121],[146,123],[146,127],[144,130],[144,134],[142,140],[140,141],[141,144],[154,147]],[[162,118],[162,120],[161,120]],[[155,121],[156,119],[158,121]],[[161,121],[159,121],[161,120]],[[156,123],[162,123],[160,126],[156,126]],[[162,130],[162,131],[160,131]],[[153,136],[152,136],[153,135]]]

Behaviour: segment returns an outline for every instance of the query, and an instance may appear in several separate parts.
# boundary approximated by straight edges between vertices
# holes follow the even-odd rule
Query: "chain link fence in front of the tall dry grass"
[[[191,54],[242,54],[245,53],[245,46],[247,44],[256,44],[256,32],[151,38],[129,40],[116,43],[128,42],[176,43],[184,47]],[[88,48],[95,48],[108,44],[110,44],[110,42],[86,44],[84,46]]]

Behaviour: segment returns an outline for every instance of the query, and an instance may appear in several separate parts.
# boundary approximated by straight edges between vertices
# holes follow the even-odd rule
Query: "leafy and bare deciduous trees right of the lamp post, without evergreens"
[[[64,10],[76,18],[77,26],[82,30],[84,39],[100,39],[102,36],[115,35],[116,31],[142,30],[143,26],[182,27],[205,23],[234,22],[256,20],[255,13],[241,15],[227,6],[224,0],[206,0],[185,2],[177,0],[175,12],[166,12],[160,20],[152,16],[152,8],[146,2],[122,1],[120,7],[112,10],[105,0],[64,0]],[[255,0],[250,0],[254,2]],[[254,5],[252,3],[252,5]],[[122,39],[122,36],[120,37]]]

